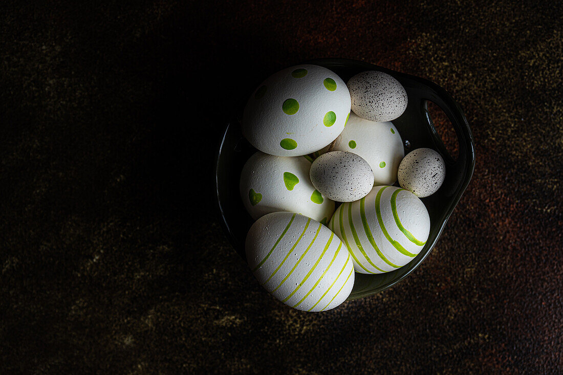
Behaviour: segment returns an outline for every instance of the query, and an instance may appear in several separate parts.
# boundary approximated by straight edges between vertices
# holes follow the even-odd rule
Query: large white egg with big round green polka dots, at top
[[[306,155],[330,144],[348,114],[350,92],[336,73],[296,65],[271,75],[252,93],[244,108],[243,134],[266,154]]]

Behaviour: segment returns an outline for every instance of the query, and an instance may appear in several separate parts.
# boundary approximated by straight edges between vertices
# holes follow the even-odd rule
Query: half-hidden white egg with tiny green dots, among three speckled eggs
[[[403,140],[391,122],[374,122],[350,114],[342,133],[330,151],[350,151],[372,167],[375,185],[393,185],[397,169],[405,156]]]

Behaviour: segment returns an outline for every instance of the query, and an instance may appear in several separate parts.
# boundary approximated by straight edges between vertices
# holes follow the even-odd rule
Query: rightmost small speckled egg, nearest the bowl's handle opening
[[[432,149],[410,151],[399,164],[399,185],[419,198],[436,193],[445,177],[444,159]]]

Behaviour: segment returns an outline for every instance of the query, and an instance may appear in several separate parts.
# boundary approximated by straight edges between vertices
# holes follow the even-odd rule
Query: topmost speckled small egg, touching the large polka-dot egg
[[[391,121],[406,109],[408,98],[403,85],[383,72],[362,72],[347,83],[352,111],[371,121]]]

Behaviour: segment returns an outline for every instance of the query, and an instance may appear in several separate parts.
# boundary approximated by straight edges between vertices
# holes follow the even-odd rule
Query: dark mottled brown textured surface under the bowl
[[[73,3],[0,4],[2,373],[563,371],[561,2]],[[306,314],[211,172],[233,105],[316,57],[440,84],[477,162],[409,278]]]

